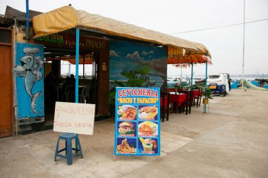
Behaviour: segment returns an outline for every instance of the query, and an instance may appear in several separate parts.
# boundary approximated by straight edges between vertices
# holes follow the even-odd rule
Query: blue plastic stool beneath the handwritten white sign
[[[65,140],[65,148],[61,149],[59,151],[59,141],[63,139]],[[75,139],[75,143],[78,143],[78,148],[72,147],[72,140]],[[75,151],[75,154],[72,153],[72,151]],[[65,151],[66,155],[61,155],[61,151]],[[56,161],[56,157],[59,156],[61,158],[67,159],[67,164],[72,165],[73,164],[73,158],[76,156],[81,155],[81,158],[83,158],[83,153],[80,145],[80,141],[78,138],[78,134],[70,134],[70,133],[63,133],[59,136],[58,142],[56,144],[56,151],[55,151],[55,158],[54,161]]]

